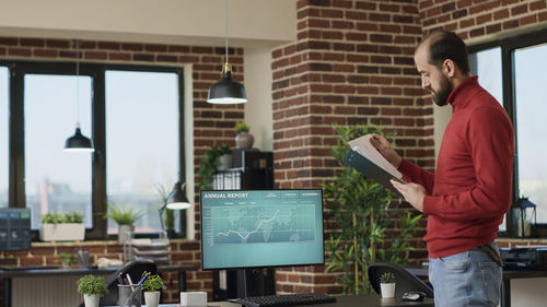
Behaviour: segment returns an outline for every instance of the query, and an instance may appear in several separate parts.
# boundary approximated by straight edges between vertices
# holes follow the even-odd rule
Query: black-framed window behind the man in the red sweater
[[[472,71],[479,83],[503,102],[515,129],[513,201],[527,197],[537,205],[538,234],[547,232],[547,165],[540,153],[547,133],[543,87],[547,79],[547,31],[519,35],[469,48]],[[501,97],[501,98],[500,98]],[[505,216],[511,220],[511,212]],[[500,231],[515,235],[510,223]]]

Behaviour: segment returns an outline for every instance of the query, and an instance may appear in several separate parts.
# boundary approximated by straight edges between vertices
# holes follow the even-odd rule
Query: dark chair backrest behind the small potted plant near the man
[[[410,291],[421,291],[427,297],[433,297],[433,290],[404,267],[393,262],[375,262],[369,265],[369,281],[380,294],[380,276],[385,272],[395,275],[395,297]]]

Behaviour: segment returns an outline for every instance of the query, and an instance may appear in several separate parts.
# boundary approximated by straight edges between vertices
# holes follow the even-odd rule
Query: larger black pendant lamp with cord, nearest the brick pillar
[[[209,87],[207,102],[210,104],[232,105],[247,102],[245,87],[232,80],[232,66],[228,61],[228,0],[225,0],[225,63],[222,66],[222,79]]]

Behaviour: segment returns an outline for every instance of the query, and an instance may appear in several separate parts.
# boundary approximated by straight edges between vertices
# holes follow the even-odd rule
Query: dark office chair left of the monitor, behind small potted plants
[[[123,278],[126,274],[131,276],[133,283],[138,283],[142,276],[142,273],[147,271],[152,275],[158,274],[158,265],[154,261],[148,259],[139,259],[127,262],[124,267],[119,268],[115,273],[105,279],[105,284],[108,287],[108,294],[101,297],[100,306],[117,306],[118,305],[118,275],[121,274]],[[80,304],[83,307],[83,303]]]

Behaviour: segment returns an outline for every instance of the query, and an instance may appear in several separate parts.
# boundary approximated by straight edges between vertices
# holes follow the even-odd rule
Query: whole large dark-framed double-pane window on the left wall
[[[81,211],[96,239],[109,233],[106,202],[120,201],[143,210],[138,232],[158,232],[158,189],[168,192],[184,166],[182,84],[179,68],[80,63],[77,78],[74,63],[0,61],[0,167],[11,167],[0,204],[31,208],[34,229],[45,212]],[[94,153],[62,151],[77,121]]]

